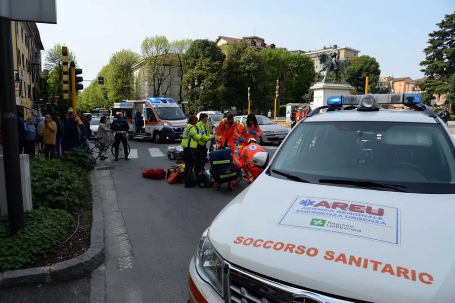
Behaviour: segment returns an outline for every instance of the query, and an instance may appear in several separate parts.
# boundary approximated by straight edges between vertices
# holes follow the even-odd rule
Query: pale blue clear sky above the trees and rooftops
[[[57,24],[38,28],[45,50],[61,43],[75,53],[85,80],[121,49],[140,53],[154,35],[257,35],[303,51],[336,44],[375,57],[382,76],[418,79],[428,33],[454,8],[453,0],[57,0]]]

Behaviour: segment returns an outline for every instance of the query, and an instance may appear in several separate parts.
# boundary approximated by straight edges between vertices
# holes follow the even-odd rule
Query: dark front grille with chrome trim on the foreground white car
[[[271,281],[226,263],[225,286],[229,303],[353,303]],[[226,292],[226,291],[225,291]],[[365,302],[365,301],[363,301]],[[367,302],[366,302],[367,303]]]

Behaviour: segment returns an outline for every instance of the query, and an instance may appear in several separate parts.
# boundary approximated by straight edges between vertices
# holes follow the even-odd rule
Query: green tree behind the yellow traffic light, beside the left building
[[[63,44],[65,45],[65,44]],[[76,56],[73,52],[68,53],[68,62],[74,61],[77,66]],[[59,95],[63,101],[63,54],[62,44],[55,44],[54,47],[47,50],[44,55],[43,67],[48,71],[46,80],[48,81],[47,104],[54,104],[54,95]],[[66,108],[67,105],[60,103],[61,108]]]

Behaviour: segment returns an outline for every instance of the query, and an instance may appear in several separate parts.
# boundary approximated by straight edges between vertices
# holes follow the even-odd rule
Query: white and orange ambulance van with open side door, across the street
[[[124,100],[114,104],[114,113],[122,112],[132,138],[162,143],[181,139],[187,117],[171,98]]]

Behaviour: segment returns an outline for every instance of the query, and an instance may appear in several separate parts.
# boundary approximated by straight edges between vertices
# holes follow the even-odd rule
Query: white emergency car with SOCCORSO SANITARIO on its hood
[[[301,120],[202,235],[189,300],[455,302],[455,138],[421,102],[330,97]]]

